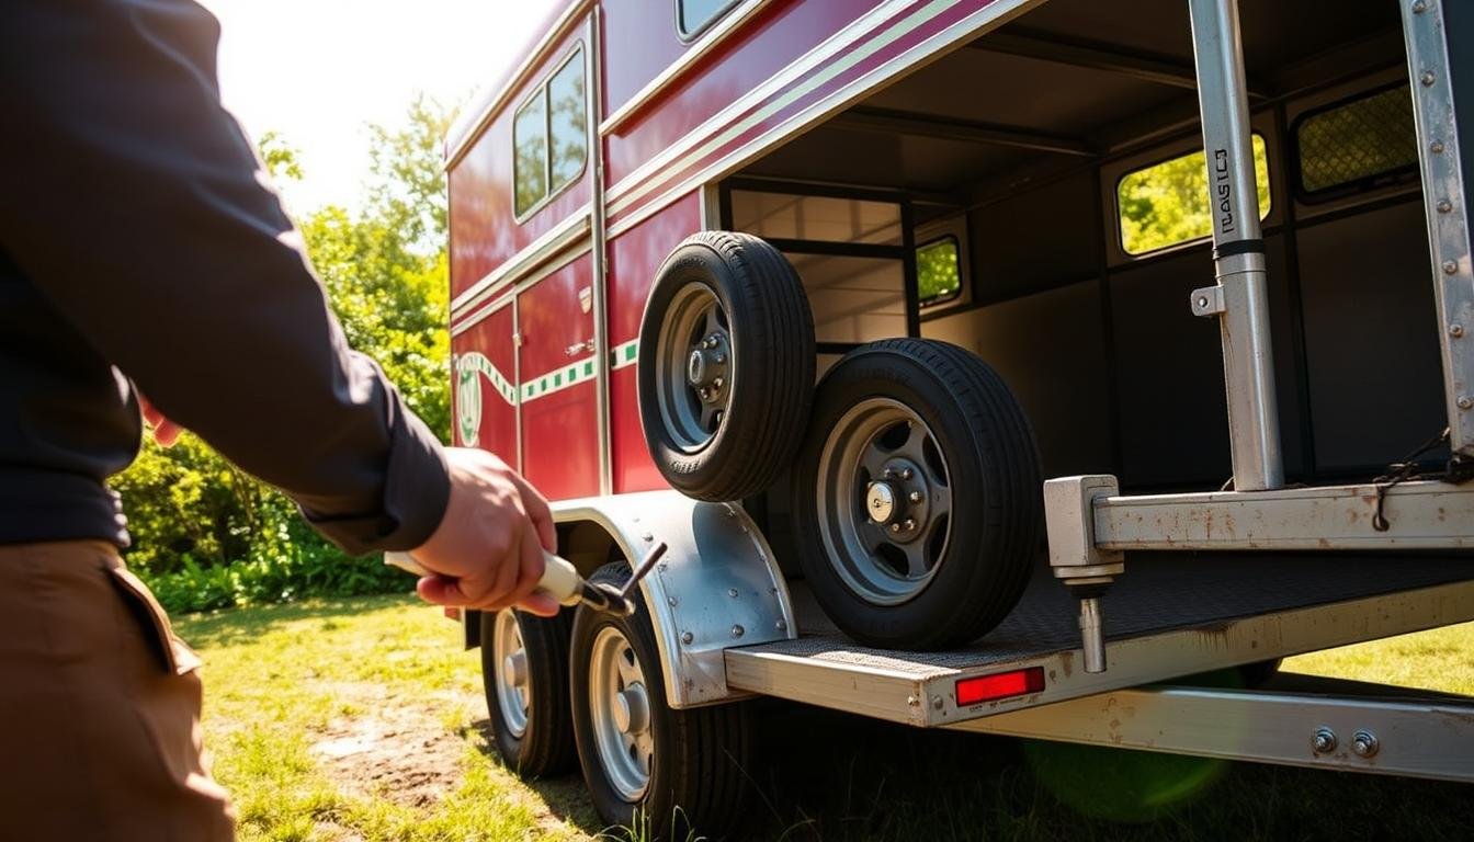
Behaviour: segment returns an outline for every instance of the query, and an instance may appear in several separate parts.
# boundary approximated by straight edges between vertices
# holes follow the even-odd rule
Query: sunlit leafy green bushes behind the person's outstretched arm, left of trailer
[[[450,114],[417,99],[404,128],[371,127],[367,201],[301,221],[314,268],[354,348],[379,361],[405,403],[450,429],[448,268],[439,139]],[[262,159],[299,178],[296,153],[268,133]],[[282,493],[199,438],[146,441],[112,479],[128,516],[130,568],[175,612],[360,596],[410,587],[379,556],[349,559],[314,532]]]

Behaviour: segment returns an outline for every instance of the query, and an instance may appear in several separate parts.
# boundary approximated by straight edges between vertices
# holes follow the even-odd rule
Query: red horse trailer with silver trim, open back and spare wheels
[[[467,613],[507,764],[722,830],[762,695],[1474,779],[1474,706],[1274,674],[1474,619],[1471,38],[1442,0],[554,4],[447,139],[455,438],[582,575],[668,552],[632,618]]]

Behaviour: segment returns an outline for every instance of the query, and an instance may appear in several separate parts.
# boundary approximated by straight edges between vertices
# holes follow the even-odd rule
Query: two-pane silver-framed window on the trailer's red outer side
[[[519,220],[578,181],[588,161],[584,52],[573,50],[511,122],[513,205]]]

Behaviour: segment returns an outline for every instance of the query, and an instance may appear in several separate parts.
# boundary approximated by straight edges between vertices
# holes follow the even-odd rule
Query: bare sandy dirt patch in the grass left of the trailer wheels
[[[433,805],[464,774],[466,740],[445,727],[441,705],[447,702],[425,699],[427,708],[404,699],[360,702],[354,715],[332,720],[310,751],[349,792],[410,807]]]

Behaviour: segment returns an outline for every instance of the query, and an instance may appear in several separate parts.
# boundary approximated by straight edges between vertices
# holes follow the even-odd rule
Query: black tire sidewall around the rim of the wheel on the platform
[[[904,366],[898,364],[905,361]],[[845,364],[848,363],[848,364]],[[951,594],[965,590],[973,569],[986,563],[988,554],[996,552],[996,525],[988,518],[988,501],[1001,494],[988,484],[979,442],[974,431],[964,420],[963,408],[948,388],[924,364],[902,354],[870,349],[852,351],[820,383],[803,442],[799,470],[794,472],[794,506],[808,506],[812,513],[820,501],[814,495],[814,478],[818,476],[824,444],[834,426],[849,408],[867,398],[889,398],[911,408],[933,432],[946,442],[955,442],[942,450],[946,463],[952,512],[946,550],[937,562],[936,574],[923,590],[896,605],[877,605],[855,594],[839,577],[830,560],[818,529],[800,537],[805,578],[822,605],[845,606],[845,615],[855,627],[852,633],[873,643],[904,644],[924,634],[929,618],[940,610],[951,610]],[[939,400],[942,398],[942,400]],[[968,516],[960,516],[963,513]],[[971,516],[976,513],[977,516]],[[822,512],[815,515],[824,518]],[[817,521],[815,521],[817,522]],[[963,547],[977,547],[980,557],[964,557]]]

